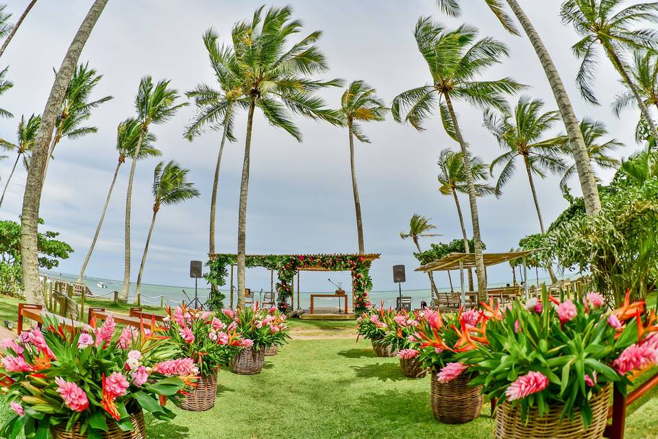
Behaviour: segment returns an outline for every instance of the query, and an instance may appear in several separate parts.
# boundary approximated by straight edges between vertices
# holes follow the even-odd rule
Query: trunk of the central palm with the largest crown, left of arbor
[[[249,154],[252,148],[252,128],[254,126],[254,109],[256,95],[252,93],[247,115],[247,135],[245,137],[245,161],[242,165],[242,181],[240,183],[240,203],[238,211],[238,307],[245,304],[245,263],[247,261],[247,189],[249,188]]]

